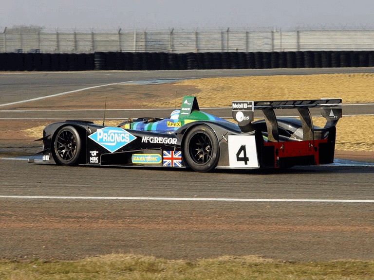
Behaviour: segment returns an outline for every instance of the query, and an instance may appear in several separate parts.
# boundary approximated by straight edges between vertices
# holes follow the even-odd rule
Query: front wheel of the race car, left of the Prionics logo
[[[73,126],[64,126],[58,130],[54,140],[54,159],[57,165],[78,165],[81,149],[79,134]]]

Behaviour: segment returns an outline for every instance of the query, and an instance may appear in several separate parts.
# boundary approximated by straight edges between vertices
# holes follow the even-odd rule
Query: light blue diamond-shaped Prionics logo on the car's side
[[[131,133],[119,127],[100,128],[91,134],[89,138],[111,153],[136,139]]]

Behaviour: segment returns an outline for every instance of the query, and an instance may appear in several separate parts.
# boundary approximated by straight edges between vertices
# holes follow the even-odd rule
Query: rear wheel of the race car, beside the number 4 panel
[[[213,170],[220,158],[220,144],[213,130],[205,125],[193,127],[183,144],[187,165],[197,172]]]

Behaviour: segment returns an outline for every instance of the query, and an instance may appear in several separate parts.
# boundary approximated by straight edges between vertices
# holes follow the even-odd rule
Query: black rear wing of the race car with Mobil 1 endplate
[[[299,112],[303,140],[314,140],[314,126],[310,108],[320,108],[321,115],[326,119],[324,128],[335,126],[342,116],[341,99],[319,100],[288,100],[288,101],[233,101],[232,116],[238,122],[242,132],[253,131],[254,110],[262,110],[265,117],[268,139],[279,140],[278,123],[275,109],[297,109]]]

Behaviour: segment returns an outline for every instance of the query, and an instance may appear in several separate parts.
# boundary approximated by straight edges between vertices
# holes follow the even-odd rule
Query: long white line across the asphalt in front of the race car
[[[227,202],[339,202],[374,203],[374,200],[362,199],[262,199],[262,198],[190,198],[190,197],[121,197],[121,196],[28,196],[0,195],[0,198],[19,199],[81,199],[81,200],[165,200],[165,201],[227,201]]]

